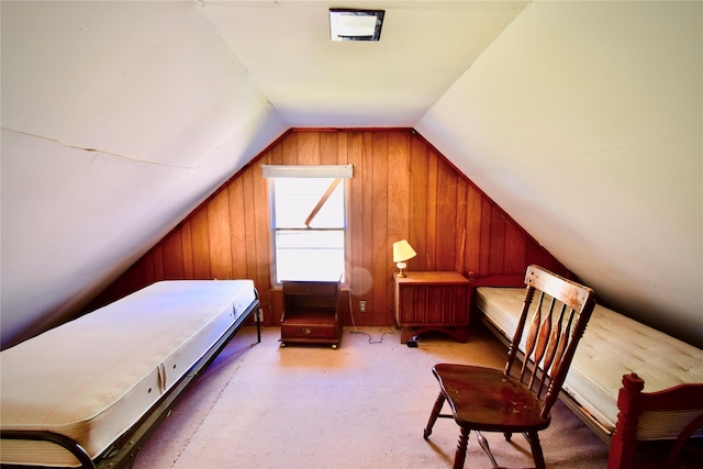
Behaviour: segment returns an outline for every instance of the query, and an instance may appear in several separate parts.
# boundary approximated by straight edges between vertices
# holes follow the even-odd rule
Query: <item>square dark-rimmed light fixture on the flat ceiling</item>
[[[378,41],[381,37],[384,10],[330,9],[332,41]]]

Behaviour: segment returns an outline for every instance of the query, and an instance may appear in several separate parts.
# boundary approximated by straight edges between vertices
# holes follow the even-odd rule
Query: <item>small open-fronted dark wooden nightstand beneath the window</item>
[[[331,344],[342,338],[339,282],[284,281],[281,346]]]

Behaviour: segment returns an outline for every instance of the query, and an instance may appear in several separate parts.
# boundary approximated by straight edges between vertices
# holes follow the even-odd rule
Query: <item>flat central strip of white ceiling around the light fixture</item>
[[[381,41],[330,41],[334,1],[204,1],[207,18],[291,126],[413,126],[525,1],[350,1]]]

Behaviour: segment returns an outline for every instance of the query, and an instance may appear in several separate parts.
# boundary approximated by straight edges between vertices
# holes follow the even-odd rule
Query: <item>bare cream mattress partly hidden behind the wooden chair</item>
[[[511,338],[524,294],[524,289],[480,287],[476,301],[487,319]],[[623,375],[631,372],[645,380],[645,392],[703,382],[703,350],[596,304],[562,389],[612,433]],[[646,413],[637,439],[676,438],[701,412]]]

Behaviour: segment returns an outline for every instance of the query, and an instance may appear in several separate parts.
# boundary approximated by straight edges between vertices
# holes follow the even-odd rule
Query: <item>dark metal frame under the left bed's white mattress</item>
[[[183,391],[193,383],[194,379],[215,359],[215,357],[227,345],[230,339],[237,333],[247,317],[254,315],[256,322],[256,339],[257,344],[261,342],[261,326],[258,314],[258,293],[256,299],[249,304],[244,313],[242,313],[234,324],[214,343],[208,351],[193,365],[183,377],[174,384],[174,387],[152,406],[142,418],[133,425],[126,433],[118,438],[102,455],[94,460],[83,450],[83,448],[71,438],[53,433],[38,431],[1,431],[2,439],[31,439],[49,442],[64,447],[80,462],[83,469],[124,469],[134,465],[136,455],[146,443],[146,440],[156,431],[158,425],[170,414],[174,406],[182,397]],[[37,466],[25,465],[2,465],[8,469],[29,469]],[[43,466],[42,466],[43,467]]]

